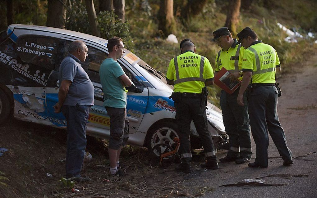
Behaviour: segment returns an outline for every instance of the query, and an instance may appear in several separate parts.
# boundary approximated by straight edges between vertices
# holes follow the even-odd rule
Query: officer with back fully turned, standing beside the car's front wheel
[[[196,47],[191,40],[184,39],[180,43],[180,51],[181,54],[170,61],[166,74],[167,84],[174,86],[172,99],[180,139],[181,164],[176,170],[191,172],[191,121],[195,124],[207,157],[207,161],[201,164],[201,167],[219,169],[205,111],[208,95],[205,86],[214,83],[213,70],[206,57],[196,54]]]

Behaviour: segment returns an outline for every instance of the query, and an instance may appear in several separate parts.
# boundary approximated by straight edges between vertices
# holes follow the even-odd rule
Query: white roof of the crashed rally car
[[[45,31],[45,32],[54,32],[54,33],[58,33],[58,34],[63,34],[63,35],[68,35],[68,36],[74,36],[74,37],[78,37],[78,38],[82,38],[82,39],[86,39],[92,42],[96,42],[96,43],[102,43],[105,46],[107,46],[106,43],[108,43],[108,41],[106,39],[97,37],[97,36],[93,36],[93,35],[88,35],[88,34],[84,34],[81,32],[76,32],[76,31],[72,31],[72,30],[67,30],[67,29],[59,29],[59,28],[52,28],[52,27],[46,27],[46,26],[39,26],[39,25],[24,25],[24,24],[11,24],[9,26],[10,30],[13,29],[30,29],[30,30],[39,30],[39,31]]]

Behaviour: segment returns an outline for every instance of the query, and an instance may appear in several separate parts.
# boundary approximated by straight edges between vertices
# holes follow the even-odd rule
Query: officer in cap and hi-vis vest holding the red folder
[[[215,74],[222,67],[231,73],[232,80],[242,77],[241,71],[242,56],[244,48],[237,44],[237,40],[232,38],[227,27],[217,29],[213,32],[214,39],[212,42],[218,44],[222,49],[219,50],[216,56]],[[250,125],[247,105],[240,106],[236,99],[239,93],[239,88],[232,94],[221,91],[220,106],[223,114],[223,124],[226,132],[229,135],[229,151],[227,156],[220,158],[220,162],[235,161],[237,164],[249,162],[252,155]],[[245,94],[243,94],[245,98]]]

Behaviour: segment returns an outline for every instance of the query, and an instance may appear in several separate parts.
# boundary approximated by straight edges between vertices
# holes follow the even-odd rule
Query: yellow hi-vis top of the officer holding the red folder
[[[242,69],[242,58],[244,48],[241,44],[237,45],[237,40],[234,39],[232,46],[228,50],[221,49],[215,60],[216,72],[219,72],[222,67],[226,68],[230,73],[239,72]],[[242,77],[239,78],[240,80]]]

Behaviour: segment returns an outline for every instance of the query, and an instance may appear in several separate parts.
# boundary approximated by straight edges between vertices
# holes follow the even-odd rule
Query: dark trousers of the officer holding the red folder
[[[229,157],[240,156],[251,158],[251,137],[247,105],[240,106],[237,103],[239,88],[231,95],[221,91],[220,106],[223,115],[223,124],[229,135]],[[243,101],[246,101],[245,94]]]

